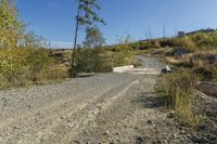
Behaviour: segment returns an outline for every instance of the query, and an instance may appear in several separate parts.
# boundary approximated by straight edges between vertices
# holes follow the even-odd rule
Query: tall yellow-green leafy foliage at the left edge
[[[40,38],[25,34],[14,0],[0,1],[0,88],[53,79],[54,61],[40,49]]]

